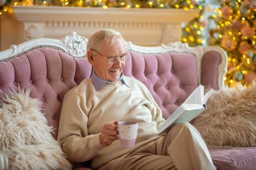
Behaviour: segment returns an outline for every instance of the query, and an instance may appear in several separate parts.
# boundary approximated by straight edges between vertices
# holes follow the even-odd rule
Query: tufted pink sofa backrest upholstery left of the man
[[[30,96],[42,102],[42,112],[57,139],[63,96],[90,77],[91,71],[86,57],[71,57],[50,47],[34,48],[0,62],[0,98],[9,90],[18,91],[18,86],[30,88]]]

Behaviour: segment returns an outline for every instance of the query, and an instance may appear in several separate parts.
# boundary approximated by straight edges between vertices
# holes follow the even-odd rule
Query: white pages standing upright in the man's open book
[[[200,84],[185,100],[186,104],[204,104],[204,86]]]

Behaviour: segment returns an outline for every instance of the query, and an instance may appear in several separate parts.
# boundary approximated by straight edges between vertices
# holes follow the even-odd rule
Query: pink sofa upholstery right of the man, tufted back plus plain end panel
[[[138,53],[127,50],[124,75],[143,82],[167,119],[202,84],[218,89],[218,67],[222,56],[216,51],[204,54],[198,80],[197,60],[193,53]]]

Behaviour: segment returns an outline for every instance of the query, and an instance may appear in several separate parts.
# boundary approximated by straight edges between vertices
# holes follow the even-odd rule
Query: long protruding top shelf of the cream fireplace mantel
[[[14,6],[13,14],[19,21],[95,21],[114,20],[117,22],[188,22],[195,18],[198,10],[184,9],[151,9],[151,8],[108,8],[100,7],[45,7]],[[113,18],[112,18],[113,17]]]

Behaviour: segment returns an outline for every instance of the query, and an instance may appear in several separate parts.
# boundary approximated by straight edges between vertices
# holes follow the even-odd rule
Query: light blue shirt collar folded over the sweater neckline
[[[96,75],[96,73],[95,73],[94,71],[92,72],[91,78],[92,78],[92,83],[93,83],[93,85],[94,85],[96,91],[99,91],[106,83],[112,83],[111,81],[102,79],[101,77],[99,77],[98,75]],[[123,72],[121,73],[121,76],[120,76],[120,78],[119,78],[119,81],[120,81],[120,80],[123,80],[124,84],[125,84],[127,87],[129,87],[128,84],[127,84],[127,82],[126,82],[126,80],[125,80],[125,78],[124,78],[124,73],[123,73]]]

